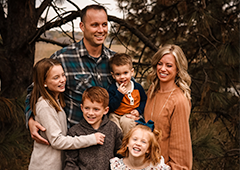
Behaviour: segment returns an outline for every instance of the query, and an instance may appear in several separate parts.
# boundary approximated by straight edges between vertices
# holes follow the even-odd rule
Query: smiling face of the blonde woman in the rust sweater
[[[158,61],[157,76],[162,83],[174,82],[177,73],[176,60],[172,54],[166,54]]]

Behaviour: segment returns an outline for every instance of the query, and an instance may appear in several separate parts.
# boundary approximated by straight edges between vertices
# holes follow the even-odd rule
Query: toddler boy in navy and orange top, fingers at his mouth
[[[125,136],[143,115],[147,96],[143,87],[132,79],[134,68],[132,58],[125,53],[117,53],[110,58],[112,77],[115,79],[109,89],[109,119],[115,122]]]

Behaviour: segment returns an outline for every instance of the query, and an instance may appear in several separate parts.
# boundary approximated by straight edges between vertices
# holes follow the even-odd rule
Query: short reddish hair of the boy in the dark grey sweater
[[[84,104],[86,99],[89,99],[92,103],[102,103],[104,108],[109,104],[109,94],[107,90],[99,86],[87,88],[82,95],[82,104]]]

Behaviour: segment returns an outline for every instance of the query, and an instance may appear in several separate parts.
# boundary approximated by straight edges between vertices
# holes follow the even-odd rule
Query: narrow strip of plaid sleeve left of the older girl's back
[[[28,120],[31,116],[34,116],[33,115],[33,112],[30,108],[30,98],[31,98],[31,92],[33,90],[33,83],[28,86],[27,88],[27,97],[26,97],[26,100],[25,100],[25,110],[24,110],[24,113],[25,113],[25,120],[26,120],[26,127],[28,128]]]

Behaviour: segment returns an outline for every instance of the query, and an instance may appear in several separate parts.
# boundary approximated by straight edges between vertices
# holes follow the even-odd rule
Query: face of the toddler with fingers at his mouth
[[[119,85],[123,83],[125,87],[128,87],[130,85],[131,77],[134,74],[134,69],[128,64],[121,66],[113,64],[111,74]]]

